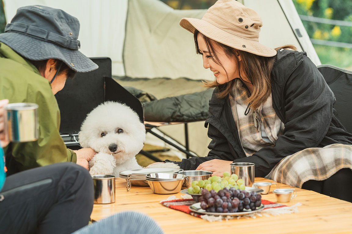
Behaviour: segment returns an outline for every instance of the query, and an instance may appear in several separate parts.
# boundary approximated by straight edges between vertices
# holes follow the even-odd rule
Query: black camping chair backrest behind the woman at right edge
[[[319,72],[324,76],[326,83],[335,94],[334,108],[338,118],[347,132],[352,133],[352,71],[333,65],[318,65]]]

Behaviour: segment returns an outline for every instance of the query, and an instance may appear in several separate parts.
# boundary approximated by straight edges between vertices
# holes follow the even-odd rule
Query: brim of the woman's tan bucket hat
[[[206,20],[194,19],[194,18],[182,18],[180,26],[187,29],[189,32],[194,33],[197,29],[200,33],[206,37],[220,42],[226,46],[238,49],[240,51],[246,51],[252,54],[272,57],[276,55],[276,50],[260,44],[258,41],[252,41],[246,38],[242,38],[235,34],[226,32],[221,28],[210,24]],[[245,47],[244,47],[245,46]]]

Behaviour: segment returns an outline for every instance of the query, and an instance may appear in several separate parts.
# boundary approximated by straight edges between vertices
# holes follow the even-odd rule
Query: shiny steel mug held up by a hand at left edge
[[[36,141],[39,136],[38,105],[11,103],[5,109],[5,131],[12,142]]]

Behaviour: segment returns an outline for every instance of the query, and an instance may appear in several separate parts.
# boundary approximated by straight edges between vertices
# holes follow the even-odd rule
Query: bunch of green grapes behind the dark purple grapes
[[[230,189],[232,187],[241,190],[246,188],[244,181],[238,179],[236,174],[230,175],[229,172],[224,172],[223,177],[213,175],[207,180],[192,181],[191,187],[188,188],[187,192],[190,194],[200,194],[203,188],[208,191],[214,189],[215,192],[219,192],[221,189]]]

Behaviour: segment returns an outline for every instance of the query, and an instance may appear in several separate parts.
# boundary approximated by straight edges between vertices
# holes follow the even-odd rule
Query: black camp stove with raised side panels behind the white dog
[[[138,114],[143,123],[140,101],[111,78],[111,59],[91,59],[99,68],[92,72],[77,73],[55,95],[61,112],[60,133],[67,146],[79,146],[77,136],[81,123],[90,111],[105,101],[125,103]]]

